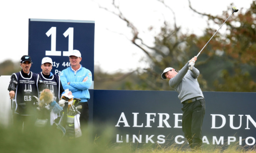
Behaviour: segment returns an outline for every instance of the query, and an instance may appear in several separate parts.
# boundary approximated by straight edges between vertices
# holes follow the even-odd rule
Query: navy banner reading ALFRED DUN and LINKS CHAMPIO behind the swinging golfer
[[[203,92],[204,145],[255,145],[256,93]],[[182,104],[175,91],[94,90],[94,122],[109,122],[115,142],[176,143],[182,132]]]

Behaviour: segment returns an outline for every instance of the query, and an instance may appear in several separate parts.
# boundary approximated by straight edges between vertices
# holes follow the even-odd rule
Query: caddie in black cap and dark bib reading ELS
[[[21,71],[13,73],[8,86],[10,99],[13,99],[14,115],[13,124],[18,130],[29,130],[31,124],[35,124],[34,111],[36,107],[33,96],[39,97],[39,92],[48,90],[40,76],[30,71],[32,61],[29,55],[23,55],[20,59]]]

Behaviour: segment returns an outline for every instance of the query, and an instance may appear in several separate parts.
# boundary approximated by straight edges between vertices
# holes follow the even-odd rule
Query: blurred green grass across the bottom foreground
[[[1,153],[256,153],[255,148],[247,149],[239,145],[205,146],[201,151],[176,145],[141,145],[115,143],[114,129],[104,125],[88,125],[81,129],[83,136],[72,140],[61,137],[55,128],[31,128],[28,132],[0,127]]]

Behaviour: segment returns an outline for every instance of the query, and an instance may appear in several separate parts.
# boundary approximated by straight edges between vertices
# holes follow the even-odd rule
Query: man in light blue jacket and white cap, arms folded
[[[61,71],[60,80],[64,90],[69,89],[74,98],[81,99],[78,105],[82,105],[80,114],[80,123],[87,124],[89,120],[89,106],[90,99],[89,87],[92,85],[92,73],[90,70],[80,65],[82,60],[79,50],[73,50],[69,55],[70,67]]]

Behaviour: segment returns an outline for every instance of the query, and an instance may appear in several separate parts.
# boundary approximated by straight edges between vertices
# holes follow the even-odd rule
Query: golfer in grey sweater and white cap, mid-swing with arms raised
[[[169,79],[169,85],[178,92],[178,98],[183,104],[182,131],[187,138],[190,148],[200,149],[202,145],[202,124],[205,115],[205,99],[197,78],[199,70],[193,65],[197,57],[193,57],[179,71],[165,68],[163,79]],[[189,63],[192,65],[189,67]]]

